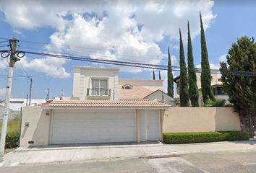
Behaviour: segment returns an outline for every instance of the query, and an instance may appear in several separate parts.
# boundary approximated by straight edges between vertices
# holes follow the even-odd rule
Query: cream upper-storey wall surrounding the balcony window
[[[87,89],[90,88],[90,79],[108,79],[108,89],[111,89],[110,99],[118,99],[119,69],[117,68],[90,68],[74,66],[73,97],[77,99],[88,99]]]

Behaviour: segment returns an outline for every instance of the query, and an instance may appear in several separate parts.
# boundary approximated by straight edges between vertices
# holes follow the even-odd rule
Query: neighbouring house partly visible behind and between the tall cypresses
[[[197,87],[199,91],[199,105],[203,105],[202,101],[202,91],[201,91],[201,73],[199,71],[196,72],[197,76]],[[222,81],[221,78],[218,76],[218,74],[211,73],[211,86],[213,87],[213,94],[216,99],[225,99],[226,104],[229,103],[229,96],[226,94],[226,92],[223,91]],[[176,83],[176,92],[179,94],[179,80],[180,76],[176,76],[174,78],[174,82]]]

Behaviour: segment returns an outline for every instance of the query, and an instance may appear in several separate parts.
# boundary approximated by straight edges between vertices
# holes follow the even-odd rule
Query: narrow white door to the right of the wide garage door
[[[159,141],[160,139],[159,110],[141,110],[140,141]]]

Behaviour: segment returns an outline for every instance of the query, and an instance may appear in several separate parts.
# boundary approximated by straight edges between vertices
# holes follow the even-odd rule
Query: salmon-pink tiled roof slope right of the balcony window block
[[[133,86],[132,89],[122,89],[119,86],[119,99],[143,99],[154,91],[143,86]]]

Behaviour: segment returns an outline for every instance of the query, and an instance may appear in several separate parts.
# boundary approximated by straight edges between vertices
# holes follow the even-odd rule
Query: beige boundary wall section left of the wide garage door
[[[25,127],[28,122],[29,126]],[[51,115],[46,115],[46,110],[41,107],[24,107],[22,112],[22,128],[20,146],[48,146]],[[34,141],[29,144],[28,141]]]

